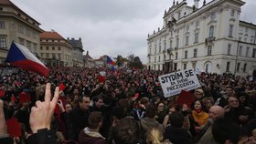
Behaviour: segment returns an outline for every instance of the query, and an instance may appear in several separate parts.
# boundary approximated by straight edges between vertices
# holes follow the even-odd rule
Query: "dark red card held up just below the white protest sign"
[[[192,93],[186,90],[181,90],[178,98],[176,99],[176,104],[182,106],[183,104],[187,104],[187,107],[190,108],[192,102],[194,101],[195,97]]]

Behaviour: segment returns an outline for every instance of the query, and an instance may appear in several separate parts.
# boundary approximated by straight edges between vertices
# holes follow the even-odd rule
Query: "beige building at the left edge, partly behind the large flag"
[[[9,0],[0,0],[0,64],[5,63],[8,50],[14,41],[39,56],[40,38],[43,30],[39,23]]]

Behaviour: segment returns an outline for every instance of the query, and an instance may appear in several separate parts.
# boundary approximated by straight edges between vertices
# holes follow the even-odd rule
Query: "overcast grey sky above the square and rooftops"
[[[64,38],[82,39],[91,57],[127,57],[146,62],[148,33],[163,26],[165,9],[173,0],[11,0],[27,15]],[[179,0],[181,2],[182,0]],[[207,3],[211,0],[207,0]],[[243,0],[240,20],[256,24],[256,0]],[[194,0],[187,0],[193,5]],[[200,0],[199,6],[203,0]]]

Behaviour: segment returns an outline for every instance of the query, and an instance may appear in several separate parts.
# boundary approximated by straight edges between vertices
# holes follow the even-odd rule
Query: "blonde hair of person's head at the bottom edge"
[[[160,144],[163,139],[163,129],[161,127],[152,127],[146,133],[146,141],[148,144]]]

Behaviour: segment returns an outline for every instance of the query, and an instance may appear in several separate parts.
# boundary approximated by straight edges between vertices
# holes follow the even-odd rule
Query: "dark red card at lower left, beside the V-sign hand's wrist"
[[[6,119],[7,133],[12,137],[21,137],[21,127],[17,118]]]

